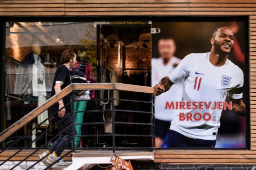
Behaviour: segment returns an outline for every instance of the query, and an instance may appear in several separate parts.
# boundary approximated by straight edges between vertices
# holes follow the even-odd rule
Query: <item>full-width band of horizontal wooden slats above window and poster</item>
[[[152,12],[154,15],[247,15],[248,12],[256,15],[255,3],[255,0],[2,0],[0,15],[152,15]],[[22,4],[24,7],[20,8]]]

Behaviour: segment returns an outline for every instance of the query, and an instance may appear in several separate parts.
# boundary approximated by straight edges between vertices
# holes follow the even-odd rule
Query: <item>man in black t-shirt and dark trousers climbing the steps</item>
[[[66,49],[62,52],[60,58],[61,65],[57,68],[52,83],[51,96],[54,96],[71,83],[69,70],[76,64],[75,52]],[[42,162],[48,166],[55,163],[60,158],[60,154],[69,145],[72,140],[72,115],[70,104],[70,94],[50,107],[50,112],[54,120],[58,122],[58,129],[61,132],[57,139],[52,143],[48,151],[38,155]],[[62,159],[57,165],[65,165]],[[55,165],[56,165],[55,164]]]

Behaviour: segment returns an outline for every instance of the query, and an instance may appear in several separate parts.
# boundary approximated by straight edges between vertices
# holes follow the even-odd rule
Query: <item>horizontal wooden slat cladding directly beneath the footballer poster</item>
[[[156,150],[154,162],[168,164],[255,164],[255,151]]]

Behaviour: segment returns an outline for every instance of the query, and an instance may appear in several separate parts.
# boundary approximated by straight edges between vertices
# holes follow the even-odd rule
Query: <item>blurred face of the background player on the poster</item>
[[[158,52],[163,60],[169,60],[175,53],[176,46],[172,39],[160,39],[158,41]]]

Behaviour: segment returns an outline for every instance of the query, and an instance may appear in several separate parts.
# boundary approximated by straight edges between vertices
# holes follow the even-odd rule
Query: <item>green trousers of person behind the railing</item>
[[[87,105],[87,101],[79,101],[79,102],[74,102],[74,111],[76,112],[74,114],[74,125],[75,125],[75,131],[76,131],[76,136],[74,138],[74,147],[78,147],[79,145],[79,140],[80,140],[80,135],[81,135],[81,127],[82,127],[82,121],[83,121],[83,114],[85,111]]]

